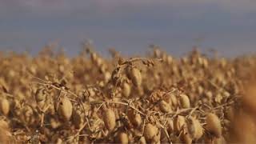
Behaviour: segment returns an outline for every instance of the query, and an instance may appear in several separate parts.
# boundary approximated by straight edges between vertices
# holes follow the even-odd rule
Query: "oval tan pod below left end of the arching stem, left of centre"
[[[110,130],[110,131],[114,130],[114,127],[116,125],[115,120],[116,118],[113,110],[111,109],[104,110],[103,121],[105,123],[107,130]]]

